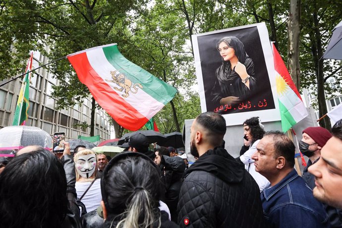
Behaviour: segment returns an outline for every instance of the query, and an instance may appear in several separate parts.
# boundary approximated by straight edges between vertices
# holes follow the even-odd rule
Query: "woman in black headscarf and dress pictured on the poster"
[[[212,101],[221,105],[245,101],[256,90],[253,60],[248,57],[243,43],[234,36],[223,37],[216,49],[222,57],[222,65],[216,70]]]

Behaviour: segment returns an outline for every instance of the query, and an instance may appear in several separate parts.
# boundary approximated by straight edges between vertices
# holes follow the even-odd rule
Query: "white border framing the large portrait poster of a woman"
[[[239,26],[239,27],[234,27],[234,28],[228,28],[228,29],[217,30],[217,31],[208,32],[208,33],[192,35],[195,68],[196,68],[196,76],[197,76],[198,87],[199,87],[201,110],[202,110],[202,113],[204,113],[209,110],[207,110],[206,99],[205,99],[205,90],[204,90],[204,82],[203,82],[203,76],[202,76],[202,66],[201,66],[201,59],[200,59],[198,37],[211,35],[211,34],[219,34],[219,33],[227,32],[227,31],[240,30],[240,29],[250,28],[250,27],[256,27],[259,33],[259,38],[261,42],[262,52],[265,57],[265,63],[266,63],[266,68],[267,68],[267,72],[268,72],[268,76],[270,80],[271,91],[272,91],[273,102],[274,102],[275,108],[269,109],[269,110],[223,114],[223,116],[226,119],[227,126],[242,124],[246,119],[253,117],[253,116],[259,116],[260,120],[263,122],[281,120],[279,104],[278,104],[276,73],[274,69],[273,53],[272,53],[272,47],[271,47],[271,43],[269,40],[269,34],[267,31],[266,24],[257,23],[257,24],[244,25],[244,26]],[[215,48],[215,45],[213,45],[213,47]],[[205,54],[201,53],[201,55],[203,56]]]

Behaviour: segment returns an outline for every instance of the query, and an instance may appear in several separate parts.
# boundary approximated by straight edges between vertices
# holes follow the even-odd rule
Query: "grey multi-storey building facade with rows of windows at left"
[[[33,57],[32,68],[47,63],[47,58],[39,52],[35,52]],[[23,78],[24,76],[0,87],[0,128],[12,125]],[[1,81],[0,84],[6,81],[9,79]],[[58,85],[58,80],[45,68],[32,72],[29,89],[30,107],[25,125],[39,127],[51,135],[54,132],[65,132],[68,139],[76,139],[78,135],[90,136],[90,127],[82,128],[77,124],[90,124],[91,96],[81,105],[57,110],[56,99],[51,96],[53,85]],[[100,141],[110,139],[109,117],[106,112],[97,110],[95,116],[95,135],[100,135]]]

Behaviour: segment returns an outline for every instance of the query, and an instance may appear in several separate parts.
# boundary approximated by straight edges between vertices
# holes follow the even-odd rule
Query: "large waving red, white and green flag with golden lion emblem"
[[[122,127],[135,131],[169,103],[177,90],[128,61],[116,44],[67,56],[79,80]]]

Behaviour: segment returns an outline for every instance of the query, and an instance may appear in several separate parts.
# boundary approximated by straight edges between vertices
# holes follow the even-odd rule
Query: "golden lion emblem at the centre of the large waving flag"
[[[114,82],[118,87],[113,87],[116,91],[124,91],[124,94],[121,94],[122,97],[127,98],[129,97],[129,92],[136,94],[138,92],[138,87],[143,88],[141,84],[135,83],[132,85],[132,81],[129,80],[126,75],[120,73],[118,70],[111,71],[113,80],[106,79],[107,82]],[[132,90],[134,89],[134,91]]]

